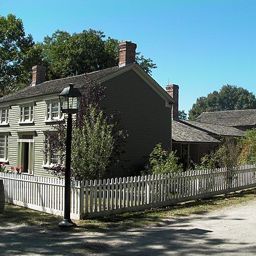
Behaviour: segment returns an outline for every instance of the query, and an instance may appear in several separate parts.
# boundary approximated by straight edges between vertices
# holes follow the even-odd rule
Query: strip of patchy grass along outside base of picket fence
[[[231,205],[246,203],[256,199],[256,188],[241,190],[235,193],[215,196],[210,199],[190,201],[173,206],[155,208],[137,212],[126,212],[91,220],[75,221],[77,231],[108,231],[113,229],[130,229],[147,225],[162,225],[161,222],[170,217],[201,214]],[[58,228],[61,217],[45,214],[27,208],[6,204],[5,213],[0,214],[0,223],[27,224],[47,229]]]

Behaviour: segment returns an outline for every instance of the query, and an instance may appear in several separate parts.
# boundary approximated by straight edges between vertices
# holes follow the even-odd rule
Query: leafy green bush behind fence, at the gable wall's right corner
[[[182,172],[182,164],[178,164],[178,159],[174,152],[163,150],[161,143],[159,143],[150,154],[150,160],[143,175]]]

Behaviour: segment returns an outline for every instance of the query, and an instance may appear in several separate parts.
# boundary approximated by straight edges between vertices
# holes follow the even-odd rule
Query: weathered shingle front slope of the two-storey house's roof
[[[133,65],[133,64],[130,64]],[[128,65],[126,65],[127,67]],[[74,83],[75,87],[81,87],[85,84],[86,77],[89,77],[90,79],[99,79],[106,75],[109,75],[111,73],[114,73],[124,67],[113,67],[109,69],[104,69],[88,74],[78,75],[78,76],[72,76],[72,77],[66,77],[51,81],[42,82],[40,84],[37,84],[36,86],[28,86],[25,87],[22,90],[19,90],[15,93],[9,94],[7,96],[4,96],[0,98],[0,103],[22,99],[22,98],[29,98],[39,95],[45,95],[45,94],[51,94],[51,93],[58,93],[61,92],[65,87],[68,86],[69,83]]]

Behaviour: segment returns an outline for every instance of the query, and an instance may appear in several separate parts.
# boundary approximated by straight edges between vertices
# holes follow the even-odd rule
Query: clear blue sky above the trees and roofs
[[[84,29],[132,40],[157,64],[153,78],[180,86],[179,109],[235,84],[255,93],[256,1],[44,0],[0,1],[0,15],[13,13],[26,33],[42,41],[57,29]]]

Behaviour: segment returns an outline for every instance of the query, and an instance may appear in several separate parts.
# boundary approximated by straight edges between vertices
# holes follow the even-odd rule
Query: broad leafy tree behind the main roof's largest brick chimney
[[[90,73],[118,65],[118,40],[96,30],[83,30],[70,35],[57,30],[43,42],[45,61],[48,62],[49,79]],[[152,59],[136,54],[136,61],[147,72],[156,68]]]

